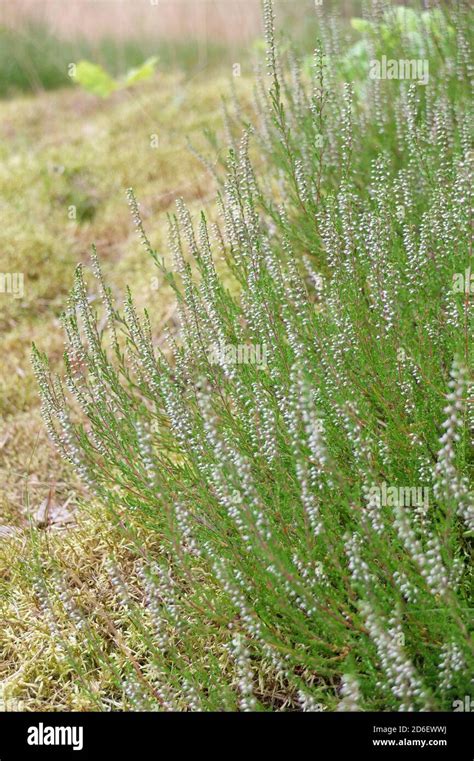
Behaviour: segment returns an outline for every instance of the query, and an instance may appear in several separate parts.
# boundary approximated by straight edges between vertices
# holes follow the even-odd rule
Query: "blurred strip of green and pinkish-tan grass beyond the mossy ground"
[[[324,11],[360,13],[358,0],[324,0]],[[277,0],[283,24],[314,46],[313,0]],[[215,70],[239,60],[262,34],[260,0],[1,0],[0,97],[71,84],[81,58],[111,74],[159,55],[162,69]]]

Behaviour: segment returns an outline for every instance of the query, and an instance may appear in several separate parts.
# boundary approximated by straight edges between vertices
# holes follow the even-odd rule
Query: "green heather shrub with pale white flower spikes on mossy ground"
[[[140,579],[111,555],[103,641],[63,582],[38,594],[125,708],[449,710],[472,691],[472,301],[453,290],[472,67],[467,6],[432,13],[421,43],[389,13],[364,32],[373,58],[422,44],[426,85],[348,85],[336,24],[305,71],[267,3],[269,76],[252,123],[228,125],[216,220],[177,204],[172,269],[128,194],[175,292],[166,342],[131,292],[113,301],[94,251],[104,311],[78,268],[64,378],[34,350],[49,433]]]

